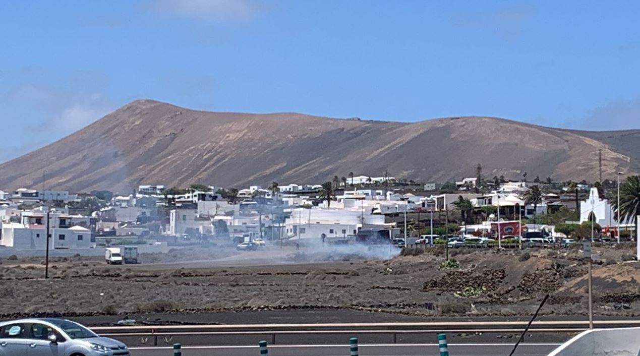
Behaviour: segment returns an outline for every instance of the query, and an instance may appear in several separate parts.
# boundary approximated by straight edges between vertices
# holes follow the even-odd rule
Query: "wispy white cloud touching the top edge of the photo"
[[[164,17],[203,22],[246,22],[255,19],[263,10],[255,0],[155,0],[150,8]]]

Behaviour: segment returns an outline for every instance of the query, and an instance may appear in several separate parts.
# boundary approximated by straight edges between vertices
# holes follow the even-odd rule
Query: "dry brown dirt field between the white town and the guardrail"
[[[634,251],[634,245],[594,247],[596,315],[640,313],[640,265],[629,261]],[[518,318],[531,315],[546,293],[551,297],[543,317],[586,314],[587,264],[578,245],[450,252],[459,267],[440,268],[443,250],[383,260],[372,258],[379,252],[362,256],[348,249],[191,248],[143,255],[145,263],[125,266],[108,266],[99,257],[56,257],[49,280],[43,279],[42,257],[5,258],[0,318],[109,316],[101,320],[113,322],[154,315],[148,321],[227,323],[234,322],[230,313],[251,312],[264,316],[255,322],[278,322],[278,314],[292,313],[298,317],[287,322],[306,322],[317,321],[311,312],[331,311],[345,311],[334,313],[336,322],[353,321],[353,312],[380,321]]]

